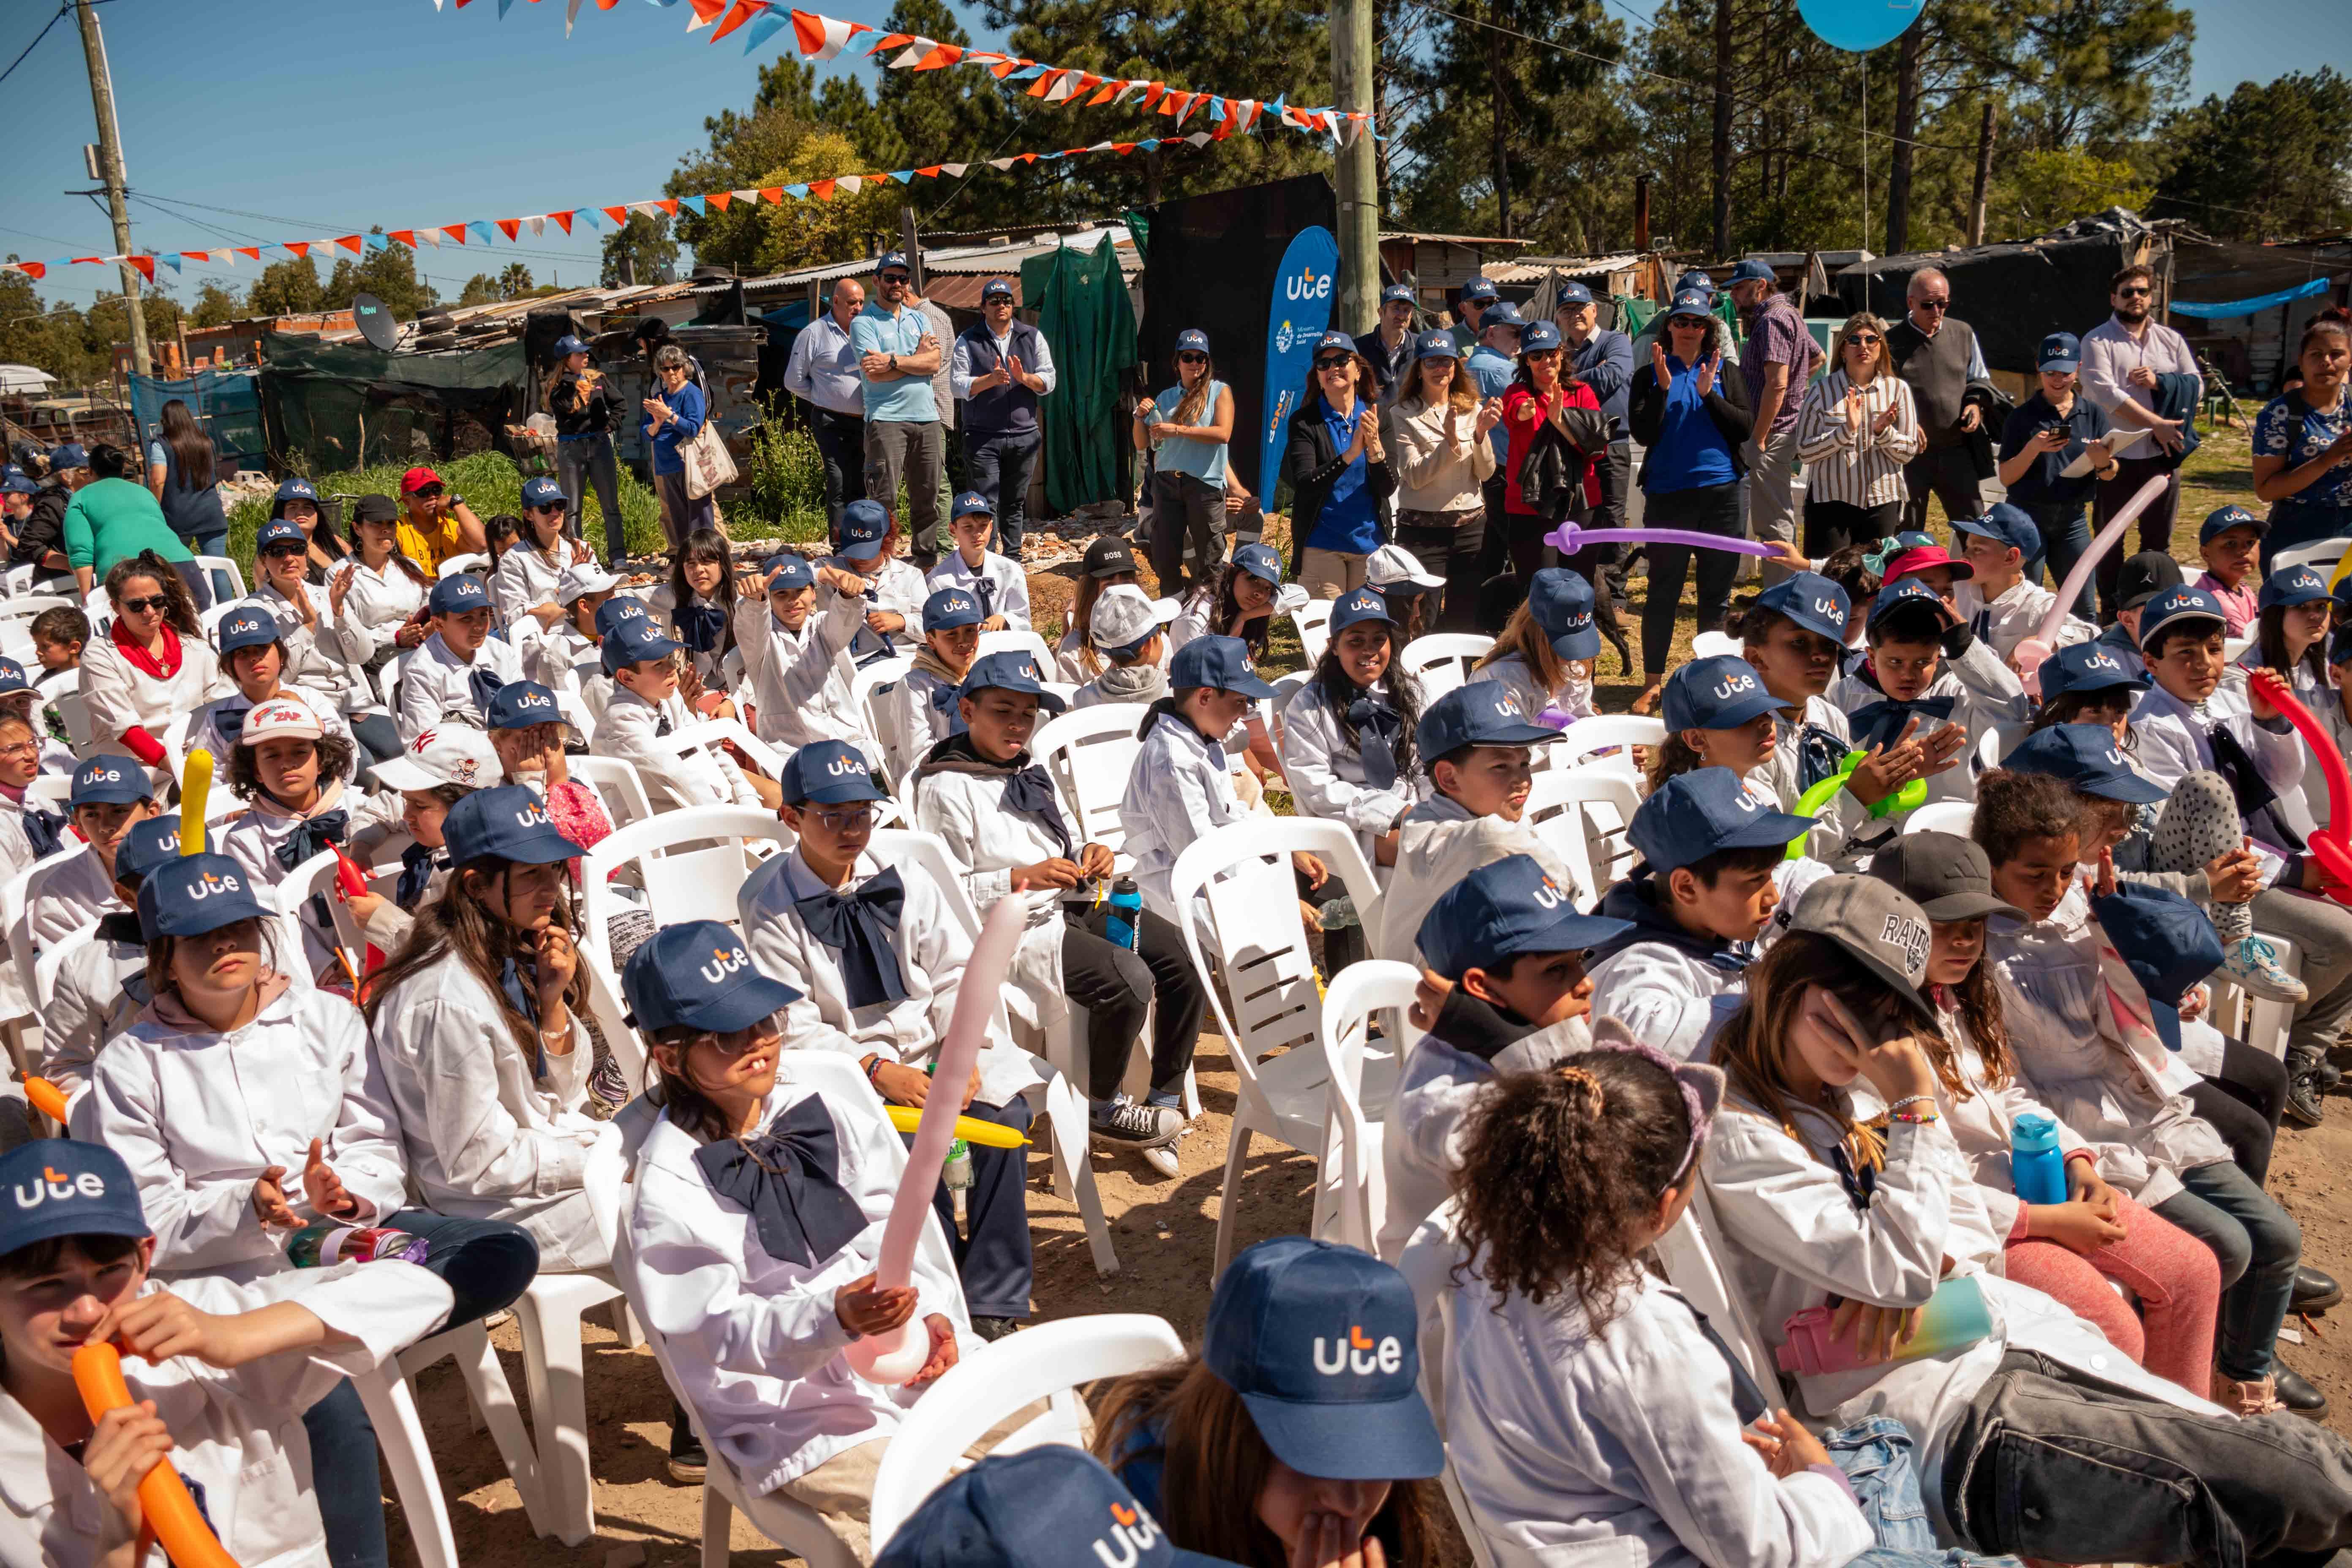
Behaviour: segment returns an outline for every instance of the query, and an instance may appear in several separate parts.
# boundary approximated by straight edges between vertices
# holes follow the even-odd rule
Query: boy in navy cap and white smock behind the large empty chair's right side
[[[1503,856],[1529,856],[1573,891],[1566,865],[1519,820],[1534,780],[1534,748],[1559,738],[1534,724],[1503,682],[1477,679],[1430,703],[1414,726],[1430,797],[1397,827],[1397,865],[1381,893],[1376,954],[1418,961],[1421,922],[1446,889]],[[1411,1232],[1406,1232],[1411,1234]]]

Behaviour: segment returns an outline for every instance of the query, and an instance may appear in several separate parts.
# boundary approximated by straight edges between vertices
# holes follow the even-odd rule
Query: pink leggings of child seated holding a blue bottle
[[[2129,1232],[2089,1258],[2056,1241],[2009,1241],[2009,1279],[2074,1309],[2107,1342],[2159,1378],[2204,1399],[2213,1389],[2213,1319],[2220,1309],[2220,1262],[2213,1248],[2117,1194]],[[2020,1211],[2023,1213],[2023,1211]],[[2140,1309],[2114,1293],[2122,1281]]]

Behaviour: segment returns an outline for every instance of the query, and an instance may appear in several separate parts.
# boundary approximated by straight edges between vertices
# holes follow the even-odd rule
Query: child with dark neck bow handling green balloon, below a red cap
[[[1966,571],[1966,562],[1900,571],[1919,555],[1926,552],[1896,557],[1863,628],[1870,658],[1830,686],[1830,701],[1846,710],[1863,750],[1917,736],[1933,804],[1973,795],[1966,748],[1994,724],[2032,719],[2032,701],[2018,672],[1969,632],[1950,585],[1938,585],[1955,569]]]

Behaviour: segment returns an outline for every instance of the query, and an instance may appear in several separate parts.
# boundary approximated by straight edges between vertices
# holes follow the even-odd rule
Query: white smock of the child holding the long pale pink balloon
[[[661,1117],[637,1154],[628,1246],[633,1305],[661,1335],[677,1392],[720,1458],[753,1495],[797,1481],[833,1455],[898,1432],[924,1389],[882,1387],[849,1371],[842,1286],[882,1258],[882,1227],[906,1180],[906,1145],[854,1060],[823,1051],[776,1058],[774,1119],[804,1100],[833,1117],[837,1180],[870,1225],[814,1265],[774,1258],[753,1215],[717,1197],[694,1152],[701,1140]],[[931,1314],[955,1324],[957,1349],[978,1349],[938,1215],[924,1213],[910,1272],[915,1333]]]

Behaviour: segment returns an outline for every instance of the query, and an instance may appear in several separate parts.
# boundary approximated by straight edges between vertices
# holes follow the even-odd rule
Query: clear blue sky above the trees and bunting
[[[1653,2],[1611,0],[1632,19]],[[0,5],[0,63],[33,40],[47,9],[49,0]],[[880,0],[826,0],[826,9],[858,21],[887,12]],[[2227,0],[2194,12],[2197,94],[2352,59],[2352,5]],[[687,38],[689,14],[642,0],[609,12],[588,5],[567,40],[562,0],[517,2],[506,21],[496,0],[463,12],[435,12],[430,0],[108,0],[99,16],[129,183],[148,197],[132,202],[132,240],[209,249],[659,195],[677,155],[703,141],[703,118],[748,103],[757,75],[736,38]],[[790,47],[783,33],[762,56]],[[9,146],[0,256],[111,254],[103,209],[61,195],[89,183],[80,148],[94,139],[71,16],[0,82],[0,113]],[[1091,115],[1103,134],[1136,122],[1134,110],[1073,115]],[[941,158],[974,153],[985,148],[938,148]],[[995,176],[983,169],[978,179]],[[593,282],[597,249],[593,235],[562,240],[550,226],[543,237],[524,230],[520,247],[445,244],[419,263],[454,296],[470,273],[517,259],[539,282]],[[68,273],[52,273],[42,294],[85,303],[113,287],[113,268]],[[179,296],[193,299],[207,275],[249,282],[254,266],[191,266]]]

